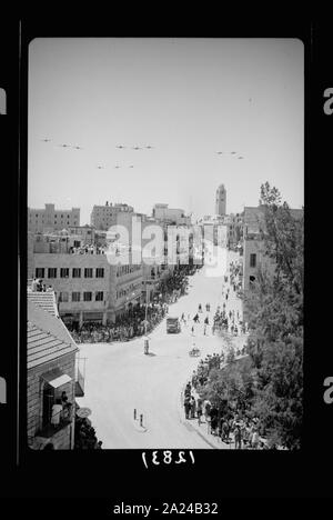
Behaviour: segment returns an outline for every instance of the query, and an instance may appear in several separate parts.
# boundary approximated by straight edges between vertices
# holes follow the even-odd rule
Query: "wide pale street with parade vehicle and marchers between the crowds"
[[[229,253],[229,261],[238,258]],[[92,410],[90,419],[104,449],[171,448],[209,449],[206,436],[200,434],[191,421],[185,421],[181,394],[201,358],[220,353],[223,340],[203,334],[206,317],[205,303],[210,302],[210,324],[216,307],[222,306],[223,279],[206,277],[204,267],[189,279],[189,294],[169,308],[169,316],[184,312],[191,321],[182,324],[179,334],[167,334],[165,319],[150,334],[150,354],[143,353],[143,338],[129,342],[80,344],[81,357],[87,358],[85,396],[79,398],[80,407]],[[228,309],[241,309],[241,301],[230,291]],[[203,312],[200,323],[191,334],[193,316],[199,303]],[[201,350],[201,358],[191,358],[193,342]],[[133,420],[143,414],[143,427]],[[204,429],[206,431],[206,429]]]

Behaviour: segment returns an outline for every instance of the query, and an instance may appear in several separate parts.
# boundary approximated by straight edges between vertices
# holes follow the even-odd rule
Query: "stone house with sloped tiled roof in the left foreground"
[[[28,290],[28,446],[70,450],[74,446],[79,348],[59,318],[53,292]],[[67,393],[70,407],[62,408]],[[57,408],[58,407],[58,408]]]

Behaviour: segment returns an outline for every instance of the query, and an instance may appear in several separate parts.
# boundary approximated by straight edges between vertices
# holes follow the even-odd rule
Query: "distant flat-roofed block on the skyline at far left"
[[[44,209],[28,208],[28,231],[52,232],[79,226],[80,208],[56,210],[54,204],[46,204]]]

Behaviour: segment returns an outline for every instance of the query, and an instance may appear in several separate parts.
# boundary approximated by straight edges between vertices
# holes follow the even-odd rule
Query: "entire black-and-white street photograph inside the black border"
[[[29,449],[302,449],[303,42],[28,66]]]

